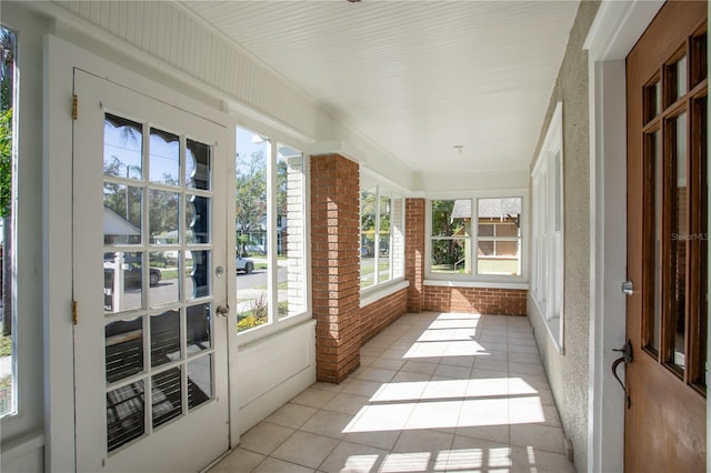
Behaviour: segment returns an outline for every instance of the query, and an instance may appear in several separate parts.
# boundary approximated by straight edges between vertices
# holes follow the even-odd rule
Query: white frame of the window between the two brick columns
[[[407,288],[409,284],[404,280],[404,245],[405,245],[405,192],[402,189],[399,189],[397,185],[384,182],[382,178],[378,177],[373,172],[361,167],[360,172],[360,187],[359,187],[359,209],[360,209],[360,197],[364,189],[375,188],[375,201],[378,204],[375,205],[375,249],[380,248],[380,198],[388,197],[390,199],[390,243],[389,243],[389,254],[388,259],[390,261],[390,276],[387,281],[380,282],[378,280],[378,271],[375,271],[375,282],[368,288],[361,288],[361,302],[360,306],[368,305],[379,299],[382,299],[389,294],[392,294],[397,291],[400,291],[403,288]],[[402,214],[399,224],[393,219],[393,209],[394,202],[397,199],[401,199],[402,201]],[[360,215],[359,210],[359,244],[358,244],[358,254],[359,259],[362,258],[361,245],[362,245],[362,215]],[[375,268],[379,265],[380,252],[374,251],[374,264]],[[360,265],[359,265],[360,268]]]

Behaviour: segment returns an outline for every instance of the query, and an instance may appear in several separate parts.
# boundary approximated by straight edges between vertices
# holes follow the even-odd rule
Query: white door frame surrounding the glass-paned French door
[[[82,50],[53,36],[44,38],[44,103],[42,137],[42,261],[46,269],[43,285],[44,328],[44,464],[57,471],[76,471],[74,435],[74,373],[72,323],[72,91],[73,70],[80,68],[128,88],[140,90],[167,103],[178,103],[193,114],[234,129],[228,114],[180,94],[157,81],[141,77],[129,69]],[[116,56],[117,60],[121,58]],[[219,100],[214,100],[217,107]],[[81,113],[81,103],[79,103]],[[226,143],[226,154],[234,155],[234,141]],[[233,170],[234,164],[228,164]],[[51,177],[51,179],[50,179]],[[228,187],[224,218],[234,211],[234,187]],[[230,205],[230,202],[232,204]],[[234,274],[234,248],[227,245],[227,274]],[[39,256],[38,256],[39,259]],[[236,279],[227,283],[228,304],[236,306]],[[81,308],[79,309],[81,323]],[[233,311],[228,326],[237,326]],[[230,415],[230,447],[239,443],[238,390],[230,380],[237,373],[237,331],[228,331],[228,389]]]

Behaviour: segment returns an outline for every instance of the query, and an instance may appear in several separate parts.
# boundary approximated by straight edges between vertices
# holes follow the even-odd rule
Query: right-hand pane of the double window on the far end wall
[[[521,198],[479,199],[477,273],[521,275]]]

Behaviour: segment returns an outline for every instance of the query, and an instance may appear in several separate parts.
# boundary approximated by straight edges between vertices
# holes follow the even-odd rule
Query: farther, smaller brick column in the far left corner
[[[424,308],[424,199],[405,203],[404,276],[410,281],[408,311]]]

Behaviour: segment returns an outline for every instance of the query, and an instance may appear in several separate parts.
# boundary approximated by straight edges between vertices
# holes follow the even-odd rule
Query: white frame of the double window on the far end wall
[[[470,191],[470,192],[437,192],[430,193],[425,207],[425,270],[424,283],[427,285],[455,285],[461,288],[500,288],[500,289],[529,289],[528,280],[528,238],[529,238],[529,217],[528,217],[528,189],[502,189],[495,191]],[[479,199],[521,199],[521,236],[520,236],[520,262],[521,274],[478,274],[477,249],[479,246],[479,231],[473,222],[479,220]],[[471,245],[471,268],[469,274],[453,274],[432,272],[432,201],[434,200],[471,200],[471,235],[467,236]],[[484,239],[484,240],[488,240]],[[503,239],[501,240],[503,241]]]

